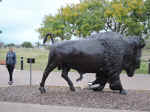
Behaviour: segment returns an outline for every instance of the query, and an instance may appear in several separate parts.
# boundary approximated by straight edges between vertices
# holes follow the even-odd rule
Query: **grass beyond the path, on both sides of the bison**
[[[0,48],[0,60],[5,60],[8,49]],[[20,69],[20,59],[24,57],[24,69],[29,70],[30,65],[27,63],[27,58],[35,58],[35,64],[32,65],[33,70],[43,71],[48,60],[49,51],[37,48],[16,48],[17,65],[16,68]],[[148,62],[150,59],[150,49],[144,49],[142,55],[142,62],[140,69],[136,70],[137,74],[148,74]]]

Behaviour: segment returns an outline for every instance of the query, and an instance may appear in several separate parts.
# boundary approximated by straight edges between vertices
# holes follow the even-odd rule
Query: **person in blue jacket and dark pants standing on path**
[[[9,73],[9,85],[13,84],[13,71],[16,65],[16,53],[14,52],[13,48],[10,47],[9,51],[6,55],[6,67]]]

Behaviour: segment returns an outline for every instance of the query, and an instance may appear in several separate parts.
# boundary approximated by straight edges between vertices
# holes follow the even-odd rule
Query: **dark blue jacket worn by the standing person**
[[[8,51],[6,55],[6,65],[15,65],[16,64],[16,53]]]

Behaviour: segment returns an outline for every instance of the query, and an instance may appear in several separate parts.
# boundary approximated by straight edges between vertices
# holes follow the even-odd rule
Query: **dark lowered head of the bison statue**
[[[129,48],[125,55],[124,68],[129,77],[134,75],[136,69],[140,68],[141,51],[145,46],[144,39],[140,37],[129,37],[127,39]]]

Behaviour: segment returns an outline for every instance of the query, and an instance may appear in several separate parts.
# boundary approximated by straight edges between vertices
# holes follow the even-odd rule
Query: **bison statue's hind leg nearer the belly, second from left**
[[[69,72],[69,69],[68,69],[68,68],[63,69],[61,76],[67,81],[67,83],[68,83],[68,85],[69,85],[69,87],[70,87],[70,90],[71,90],[71,91],[75,91],[75,88],[74,88],[74,86],[73,86],[73,83],[72,83],[72,81],[70,80],[70,78],[68,77],[68,72]]]

